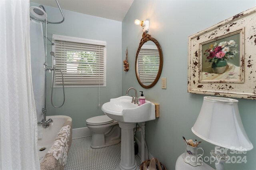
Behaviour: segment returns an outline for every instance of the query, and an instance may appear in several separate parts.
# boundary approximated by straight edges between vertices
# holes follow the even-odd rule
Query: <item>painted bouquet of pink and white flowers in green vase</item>
[[[230,40],[222,41],[219,44],[214,43],[214,45],[210,45],[209,49],[206,49],[204,55],[206,56],[206,62],[212,63],[212,72],[215,74],[225,72],[226,60],[234,59],[234,56],[238,53],[236,47],[236,42]]]

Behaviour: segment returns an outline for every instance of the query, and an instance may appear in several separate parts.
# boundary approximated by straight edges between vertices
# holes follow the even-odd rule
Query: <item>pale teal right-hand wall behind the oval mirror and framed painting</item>
[[[191,127],[199,114],[204,95],[187,92],[188,36],[255,5],[255,0],[134,0],[122,21],[122,49],[128,48],[130,63],[130,70],[122,71],[122,94],[129,87],[135,87],[144,91],[147,100],[160,104],[160,118],[146,123],[146,140],[150,153],[168,170],[175,169],[176,159],[185,150],[182,136],[198,139]],[[167,78],[166,90],[161,89],[160,81],[153,88],[144,89],[136,80],[134,65],[142,29],[134,24],[135,19],[150,21],[148,33],[162,47],[164,65],[160,78]],[[122,59],[125,59],[124,53]],[[225,164],[225,168],[256,170],[256,101],[238,100],[242,122],[254,149],[241,155],[246,156],[246,164]],[[214,149],[214,145],[205,141],[200,145],[206,156]]]

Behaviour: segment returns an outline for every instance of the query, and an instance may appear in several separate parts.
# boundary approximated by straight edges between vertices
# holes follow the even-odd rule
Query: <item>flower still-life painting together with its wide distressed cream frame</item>
[[[256,100],[256,7],[189,37],[188,92]]]

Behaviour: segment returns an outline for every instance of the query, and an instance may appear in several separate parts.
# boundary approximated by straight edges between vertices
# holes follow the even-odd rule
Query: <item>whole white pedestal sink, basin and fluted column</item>
[[[132,103],[132,97],[121,96],[110,99],[102,105],[102,111],[111,119],[118,121],[121,128],[121,160],[116,170],[138,170],[134,157],[134,131],[136,123],[156,119],[155,106],[146,100],[138,106]]]

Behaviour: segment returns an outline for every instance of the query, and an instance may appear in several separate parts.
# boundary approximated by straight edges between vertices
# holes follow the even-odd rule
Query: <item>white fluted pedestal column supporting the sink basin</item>
[[[136,123],[118,122],[121,128],[121,160],[117,170],[138,170],[134,156],[134,127]]]

